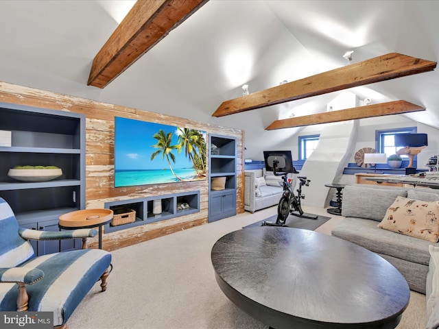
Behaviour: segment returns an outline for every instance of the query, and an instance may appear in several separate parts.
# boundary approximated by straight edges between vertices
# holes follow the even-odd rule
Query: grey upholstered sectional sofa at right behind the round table
[[[392,207],[397,197],[400,197],[403,204]],[[412,202],[413,200],[419,201]],[[427,224],[424,222],[427,216],[427,219],[436,221],[437,225],[439,214],[437,218],[429,212],[429,215],[417,216],[416,211],[423,210],[429,202],[437,200],[439,190],[431,188],[348,185],[344,188],[342,202],[342,215],[346,218],[333,228],[332,235],[379,254],[403,274],[410,289],[425,294],[430,261],[429,246],[439,246],[439,243],[427,239],[431,239],[431,234],[439,232],[427,232]],[[398,222],[395,219],[399,213],[410,215],[412,221],[409,226],[397,227]],[[380,223],[388,227],[380,228]],[[420,230],[412,228],[412,224],[420,225]],[[424,235],[407,235],[413,235],[415,231]]]

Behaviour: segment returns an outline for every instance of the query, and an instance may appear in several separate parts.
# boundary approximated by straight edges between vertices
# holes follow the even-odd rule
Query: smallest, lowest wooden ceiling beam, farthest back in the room
[[[381,117],[383,115],[401,114],[407,112],[424,111],[425,108],[408,101],[389,101],[387,103],[359,106],[357,108],[346,108],[345,110],[335,110],[302,117],[294,117],[283,120],[276,120],[265,130],[276,130],[291,127],[302,127],[304,125],[318,125],[320,123],[332,123],[348,121],[353,119],[365,119],[371,117]]]

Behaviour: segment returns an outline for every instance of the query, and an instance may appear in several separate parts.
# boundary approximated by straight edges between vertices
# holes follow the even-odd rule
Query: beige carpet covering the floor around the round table
[[[316,215],[324,209],[304,207]],[[95,284],[67,324],[70,329],[268,328],[237,308],[219,289],[211,248],[221,236],[276,213],[276,207],[222,219],[112,252],[108,289]],[[342,217],[317,232],[330,234]],[[397,328],[425,328],[425,295],[412,292]]]

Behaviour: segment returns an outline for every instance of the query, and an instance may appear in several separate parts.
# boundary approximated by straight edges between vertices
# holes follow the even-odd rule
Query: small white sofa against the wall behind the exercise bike
[[[253,169],[244,172],[244,210],[255,212],[278,204],[281,199],[283,188],[282,178],[273,175],[265,169]],[[296,175],[289,174],[293,179],[293,186],[296,184]],[[258,179],[259,178],[259,179]],[[258,186],[257,182],[263,178],[265,184]],[[259,188],[260,195],[257,195]]]

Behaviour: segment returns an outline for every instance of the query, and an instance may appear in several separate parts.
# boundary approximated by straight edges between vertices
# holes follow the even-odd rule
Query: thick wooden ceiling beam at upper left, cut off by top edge
[[[209,0],[137,0],[97,53],[88,86],[104,88]]]

